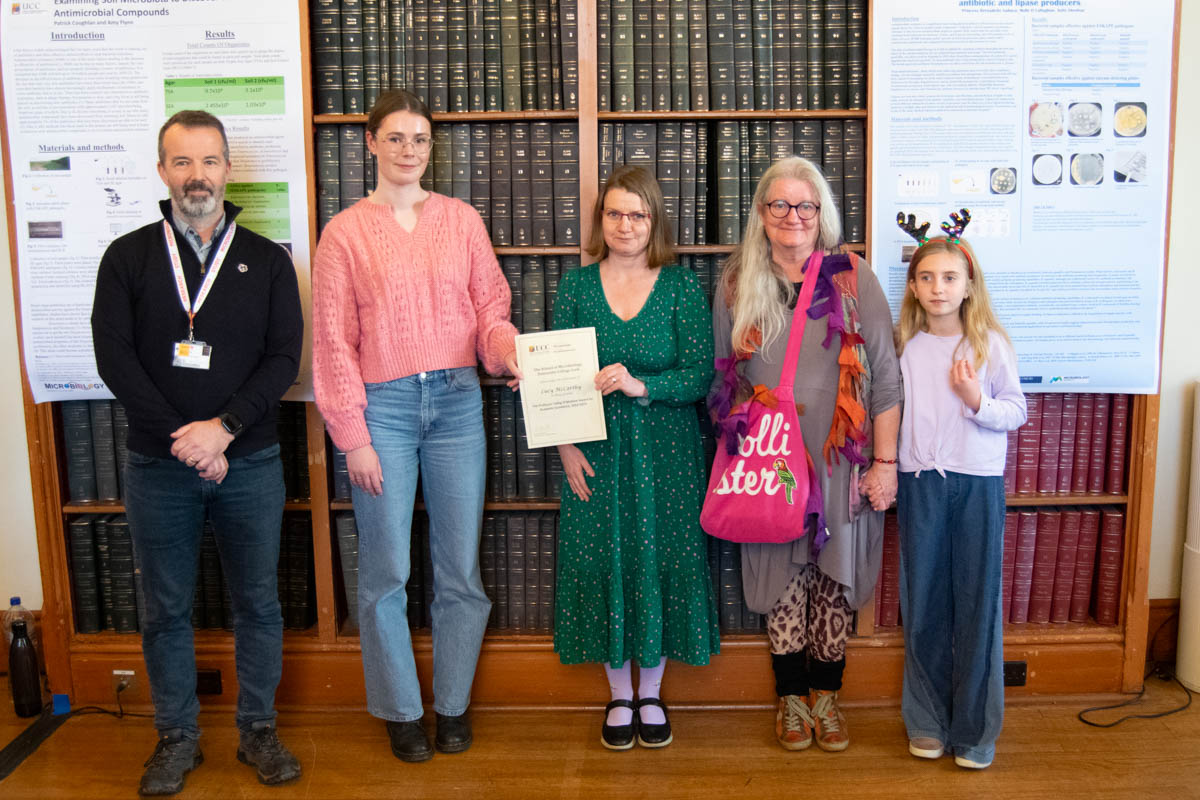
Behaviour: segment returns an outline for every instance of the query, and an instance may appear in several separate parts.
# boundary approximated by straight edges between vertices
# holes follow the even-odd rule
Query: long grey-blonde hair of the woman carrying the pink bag
[[[746,222],[742,242],[730,253],[721,273],[721,287],[733,319],[733,351],[750,353],[766,348],[787,330],[787,305],[796,295],[792,282],[772,260],[770,240],[762,224],[763,206],[772,185],[790,178],[808,184],[817,196],[821,211],[817,216],[815,249],[830,252],[841,242],[841,218],[834,204],[829,184],[811,161],[791,156],[773,163],[758,180],[754,193],[754,209]],[[761,338],[761,341],[758,341]]]

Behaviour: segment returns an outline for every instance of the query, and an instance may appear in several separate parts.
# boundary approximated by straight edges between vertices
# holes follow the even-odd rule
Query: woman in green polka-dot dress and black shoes
[[[563,276],[554,327],[595,327],[607,439],[560,445],[563,492],[554,650],[601,662],[612,703],[601,742],[671,742],[659,697],[668,657],[720,649],[700,528],[704,449],[696,401],[713,375],[708,303],[673,258],[662,193],[644,169],[613,172],[593,209],[600,261]],[[638,666],[634,703],[631,662]]]

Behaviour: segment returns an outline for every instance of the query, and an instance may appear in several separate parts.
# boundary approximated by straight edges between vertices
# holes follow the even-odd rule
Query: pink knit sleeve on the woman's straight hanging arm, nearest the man
[[[371,444],[359,362],[359,307],[346,224],[323,231],[312,263],[312,380],[329,435],[349,452]]]

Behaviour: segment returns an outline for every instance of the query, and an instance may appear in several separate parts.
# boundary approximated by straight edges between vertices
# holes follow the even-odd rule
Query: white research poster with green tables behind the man
[[[239,225],[290,251],[310,307],[294,0],[6,2],[0,52],[23,355],[36,402],[112,397],[91,347],[96,269],[114,239],[162,219],[157,136],[178,110],[221,119],[226,199],[242,207]],[[306,341],[292,399],[312,397],[310,351]]]

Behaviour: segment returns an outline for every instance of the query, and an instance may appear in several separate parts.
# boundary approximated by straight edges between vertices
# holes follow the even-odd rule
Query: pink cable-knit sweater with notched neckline
[[[313,389],[334,444],[371,443],[364,384],[469,367],[504,372],[517,330],[479,213],[430,193],[416,228],[370,199],[335,216],[313,258]]]

